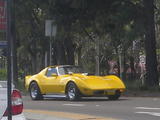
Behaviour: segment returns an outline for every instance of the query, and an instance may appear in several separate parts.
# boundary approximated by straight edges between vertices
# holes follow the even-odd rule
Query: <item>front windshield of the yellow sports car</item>
[[[58,68],[60,75],[70,74],[70,73],[85,73],[80,66],[63,66]]]

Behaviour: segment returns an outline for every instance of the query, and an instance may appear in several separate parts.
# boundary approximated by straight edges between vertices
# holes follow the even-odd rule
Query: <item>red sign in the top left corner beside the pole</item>
[[[6,1],[0,0],[0,30],[6,30]]]

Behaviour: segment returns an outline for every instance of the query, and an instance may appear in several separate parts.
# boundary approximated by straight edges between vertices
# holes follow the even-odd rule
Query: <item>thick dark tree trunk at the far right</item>
[[[146,85],[148,87],[158,86],[154,0],[143,0],[145,11],[145,51],[146,51]]]

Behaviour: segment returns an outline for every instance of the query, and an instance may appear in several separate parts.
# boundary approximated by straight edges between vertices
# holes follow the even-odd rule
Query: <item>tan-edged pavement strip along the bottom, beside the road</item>
[[[99,116],[76,114],[68,112],[43,111],[43,110],[25,110],[27,120],[117,120],[113,118],[104,118]]]

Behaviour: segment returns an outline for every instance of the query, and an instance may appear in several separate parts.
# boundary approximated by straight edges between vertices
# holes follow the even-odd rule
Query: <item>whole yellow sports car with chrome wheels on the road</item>
[[[117,100],[125,90],[117,76],[90,75],[73,65],[50,66],[36,75],[28,75],[25,87],[33,100],[43,99],[47,94],[65,95],[71,101],[85,96],[107,96]]]

